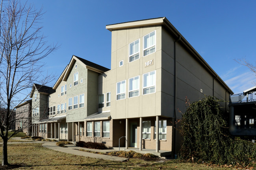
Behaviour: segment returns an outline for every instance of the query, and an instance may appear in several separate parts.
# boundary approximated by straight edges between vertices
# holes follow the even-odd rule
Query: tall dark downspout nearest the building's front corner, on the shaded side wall
[[[173,140],[173,146],[174,146],[174,158],[177,158],[177,151],[176,151],[176,139],[177,139],[177,113],[176,113],[176,100],[177,100],[177,73],[176,73],[176,42],[180,41],[181,37],[179,37],[177,40],[174,41],[174,140]]]

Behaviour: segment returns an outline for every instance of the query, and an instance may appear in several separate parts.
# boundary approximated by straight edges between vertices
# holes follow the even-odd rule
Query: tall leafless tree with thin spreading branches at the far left
[[[8,130],[15,124],[15,106],[29,95],[33,83],[46,84],[43,76],[42,59],[54,51],[41,33],[39,21],[42,9],[16,0],[0,2],[0,137],[3,140],[2,165],[9,165],[7,159]]]

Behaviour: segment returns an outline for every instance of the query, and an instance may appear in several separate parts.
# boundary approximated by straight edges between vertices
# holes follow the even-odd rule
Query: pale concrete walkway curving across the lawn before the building
[[[20,137],[13,137],[12,139],[16,140],[26,140],[26,139],[20,139]],[[16,142],[10,142],[11,143],[16,143]],[[74,155],[80,155],[80,156],[85,156],[85,157],[93,157],[97,159],[105,159],[105,160],[110,160],[110,161],[126,161],[127,158],[123,157],[117,157],[117,156],[109,156],[109,155],[101,155],[101,154],[93,154],[90,152],[83,152],[79,151],[81,148],[78,146],[75,146],[74,144],[67,144],[67,148],[63,148],[60,146],[56,145],[56,142],[45,142],[45,141],[33,141],[33,142],[17,142],[17,143],[43,143],[42,146],[45,148],[49,148],[52,150],[56,150],[59,152],[65,152],[68,154],[74,154]],[[92,149],[87,149],[83,148],[84,150],[92,150]],[[96,152],[104,152],[105,150],[94,150]],[[111,150],[108,150],[106,152],[111,152]]]

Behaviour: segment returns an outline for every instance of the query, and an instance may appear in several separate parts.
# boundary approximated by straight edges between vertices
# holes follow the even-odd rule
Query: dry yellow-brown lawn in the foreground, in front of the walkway
[[[1,145],[0,145],[1,146]],[[82,151],[81,151],[82,152]],[[2,150],[0,150],[2,154]],[[235,168],[219,168],[205,164],[182,163],[179,160],[145,161],[142,159],[129,159],[125,162],[106,161],[66,154],[44,148],[41,143],[20,143],[8,145],[8,161],[11,169],[37,169],[37,170],[232,170]],[[7,169],[0,166],[0,170]]]

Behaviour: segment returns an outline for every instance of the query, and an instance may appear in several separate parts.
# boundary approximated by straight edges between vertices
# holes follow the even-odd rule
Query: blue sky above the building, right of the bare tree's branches
[[[106,25],[165,16],[234,93],[255,86],[255,73],[234,59],[256,61],[254,0],[28,0],[45,14],[48,43],[60,48],[45,59],[57,78],[72,55],[107,68],[111,32]],[[55,82],[55,81],[54,81]]]

